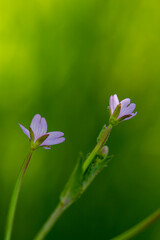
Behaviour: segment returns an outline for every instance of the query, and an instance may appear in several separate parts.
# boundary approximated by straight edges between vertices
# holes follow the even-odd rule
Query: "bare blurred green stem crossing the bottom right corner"
[[[145,228],[149,227],[152,223],[160,218],[160,209],[155,211],[149,217],[145,218],[140,223],[136,224],[134,227],[130,228],[126,232],[120,234],[119,236],[112,238],[111,240],[128,240],[135,237],[138,233],[142,232]]]

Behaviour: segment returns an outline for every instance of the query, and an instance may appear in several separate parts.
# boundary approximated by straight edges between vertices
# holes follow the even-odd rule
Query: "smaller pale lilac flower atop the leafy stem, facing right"
[[[130,98],[126,98],[119,102],[117,94],[110,96],[109,109],[110,109],[110,123],[115,125],[120,121],[128,120],[134,117],[137,112],[133,113],[136,108],[135,103],[131,103]]]

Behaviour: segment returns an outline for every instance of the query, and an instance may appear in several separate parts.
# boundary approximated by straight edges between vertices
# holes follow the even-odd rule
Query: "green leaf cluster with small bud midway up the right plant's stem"
[[[61,193],[60,200],[62,204],[69,206],[75,202],[91,184],[97,174],[100,173],[104,167],[108,165],[113,156],[107,157],[107,146],[104,146],[103,148],[95,156],[92,163],[88,166],[85,172],[83,171],[84,161],[81,154],[69,181]]]

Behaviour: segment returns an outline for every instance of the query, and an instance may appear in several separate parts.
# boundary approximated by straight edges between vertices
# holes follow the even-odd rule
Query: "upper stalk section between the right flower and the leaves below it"
[[[103,147],[105,142],[108,140],[108,137],[109,137],[109,134],[110,134],[111,130],[112,130],[112,125],[109,124],[109,126],[103,132],[103,135],[102,135],[100,141],[97,143],[97,145],[95,146],[93,151],[90,153],[90,155],[88,156],[88,158],[84,162],[84,164],[83,164],[83,172],[86,171],[86,169],[88,168],[88,166],[90,165],[90,163],[92,162],[92,160],[94,159],[96,154],[101,150],[101,148]]]

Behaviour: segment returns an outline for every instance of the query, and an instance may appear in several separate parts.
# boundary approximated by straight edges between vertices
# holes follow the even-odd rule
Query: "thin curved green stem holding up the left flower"
[[[14,187],[14,190],[12,193],[11,202],[10,202],[9,211],[8,211],[6,233],[5,233],[4,240],[11,239],[11,233],[12,233],[12,228],[13,228],[13,221],[14,221],[18,196],[19,196],[21,185],[22,185],[22,180],[23,180],[24,174],[26,172],[26,169],[28,167],[28,164],[30,162],[31,156],[32,156],[32,151],[27,155],[27,157],[25,158],[25,160],[22,164],[21,170],[19,172],[16,184],[15,184],[15,187]]]

